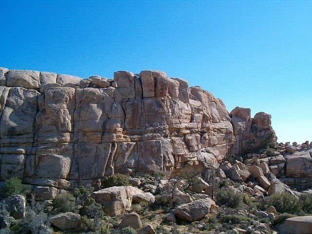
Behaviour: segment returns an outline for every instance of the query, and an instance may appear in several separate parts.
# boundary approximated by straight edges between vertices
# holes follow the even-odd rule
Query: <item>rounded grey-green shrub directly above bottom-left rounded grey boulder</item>
[[[77,209],[75,198],[69,193],[62,193],[52,201],[54,213],[74,212]]]

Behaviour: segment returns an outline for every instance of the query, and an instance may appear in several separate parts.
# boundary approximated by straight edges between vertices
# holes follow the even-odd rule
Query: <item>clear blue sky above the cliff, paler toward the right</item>
[[[0,0],[0,66],[112,78],[163,70],[312,141],[312,1]]]

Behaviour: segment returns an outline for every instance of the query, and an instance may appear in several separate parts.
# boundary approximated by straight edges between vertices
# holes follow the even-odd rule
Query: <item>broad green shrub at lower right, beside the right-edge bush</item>
[[[279,213],[295,214],[300,211],[299,200],[286,192],[276,193],[265,198],[267,206],[274,206]]]

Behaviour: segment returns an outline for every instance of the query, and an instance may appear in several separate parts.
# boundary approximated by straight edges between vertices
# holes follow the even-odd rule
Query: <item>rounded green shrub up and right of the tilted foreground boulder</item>
[[[216,204],[225,205],[230,208],[238,208],[242,205],[242,195],[239,191],[232,188],[222,188],[215,195]]]

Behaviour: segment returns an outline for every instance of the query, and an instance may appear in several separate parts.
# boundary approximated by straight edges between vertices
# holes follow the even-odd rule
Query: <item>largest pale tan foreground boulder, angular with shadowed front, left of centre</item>
[[[101,189],[92,193],[91,197],[97,203],[105,207],[107,215],[116,216],[125,209],[131,207],[132,202],[154,202],[155,197],[151,193],[144,193],[142,190],[132,186],[114,186]]]

